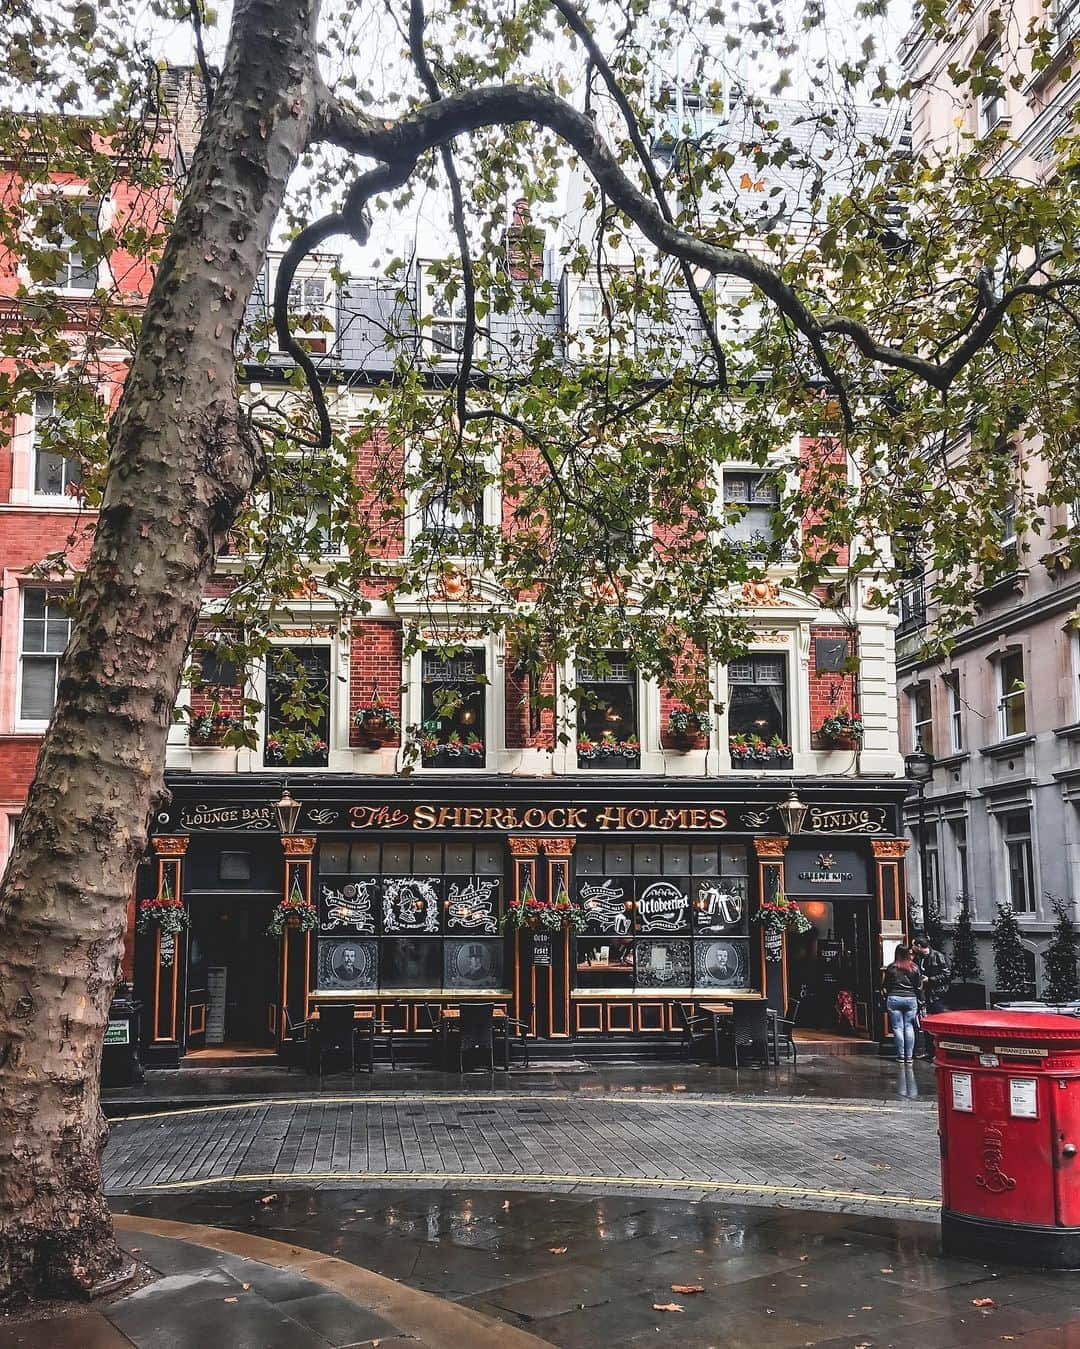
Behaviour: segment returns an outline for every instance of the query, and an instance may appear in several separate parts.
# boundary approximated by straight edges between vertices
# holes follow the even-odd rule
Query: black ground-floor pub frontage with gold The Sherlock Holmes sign
[[[387,1012],[417,1043],[425,1008],[475,1000],[553,1041],[659,1039],[678,1002],[762,996],[781,1013],[798,1001],[801,1027],[882,1033],[874,989],[907,921],[902,781],[301,772],[284,831],[280,776],[167,782],[136,909],[181,901],[186,921],[135,935],[151,1066],[272,1052],[334,1001]],[[759,921],[781,893],[809,931]],[[503,921],[562,897],[581,932]],[[283,900],[313,904],[317,927],[268,935]]]

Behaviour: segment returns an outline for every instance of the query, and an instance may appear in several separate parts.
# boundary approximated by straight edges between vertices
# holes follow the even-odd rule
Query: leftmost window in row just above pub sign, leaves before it
[[[330,648],[272,646],[267,653],[268,768],[326,768],[330,746]]]

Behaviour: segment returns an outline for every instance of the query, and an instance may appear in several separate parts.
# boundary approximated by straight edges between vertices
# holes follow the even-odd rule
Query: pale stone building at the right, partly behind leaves
[[[1053,11],[1038,0],[1004,9],[979,3],[963,11],[948,45],[913,36],[905,50],[914,81],[911,131],[917,152],[948,155],[959,138],[990,136],[998,167],[1025,181],[1048,181],[1056,170],[1056,138],[1075,127],[1080,66],[1075,59],[1080,5],[1058,7],[1056,57],[1038,71],[1022,34]],[[971,67],[986,55],[1004,70],[999,90],[957,105],[945,80],[951,62]],[[1019,77],[1019,78],[1014,78]],[[992,259],[990,259],[992,260]],[[963,447],[957,453],[963,453]],[[1046,465],[1036,444],[1017,444],[1018,490],[1038,492]],[[967,898],[983,935],[983,974],[992,985],[986,940],[999,902],[1011,904],[1026,934],[1033,982],[1042,987],[1042,962],[1053,921],[1052,904],[1076,912],[1080,896],[1080,577],[1062,560],[1052,532],[1080,523],[1076,509],[1048,513],[1037,536],[1017,537],[1011,513],[1002,517],[1002,545],[1015,567],[978,595],[979,616],[955,634],[948,657],[920,656],[921,634],[933,622],[932,576],[911,568],[901,595],[898,687],[901,741],[910,753],[921,737],[936,759],[926,789],[928,876],[947,921]],[[917,807],[906,819],[917,835]],[[920,886],[914,853],[913,890]]]

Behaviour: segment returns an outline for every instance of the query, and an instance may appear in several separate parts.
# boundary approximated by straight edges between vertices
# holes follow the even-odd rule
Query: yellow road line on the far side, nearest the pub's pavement
[[[674,1105],[696,1109],[727,1109],[727,1110],[829,1110],[840,1114],[897,1114],[899,1108],[891,1105],[845,1105],[837,1101],[770,1101],[767,1098],[752,1101],[732,1101],[728,1097],[689,1097],[689,1095],[585,1095],[574,1094],[537,1094],[533,1091],[495,1093],[481,1095],[465,1091],[460,1095],[425,1095],[419,1093],[395,1093],[379,1095],[348,1095],[348,1097],[268,1097],[259,1101],[231,1101],[225,1105],[193,1105],[182,1106],[178,1110],[150,1110],[146,1114],[117,1114],[112,1124],[128,1124],[132,1120],[171,1120],[183,1114],[212,1114],[214,1112],[227,1113],[229,1110],[258,1110],[263,1106],[297,1106],[297,1105],[456,1105],[468,1101],[476,1102],[503,1102],[503,1101],[549,1101],[557,1103],[608,1103],[608,1105]]]

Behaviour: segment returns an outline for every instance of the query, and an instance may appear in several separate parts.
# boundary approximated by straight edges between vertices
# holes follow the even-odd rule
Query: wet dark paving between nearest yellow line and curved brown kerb
[[[449,1188],[213,1193],[115,1207],[334,1255],[566,1349],[1080,1346],[1075,1275],[947,1260],[929,1222]]]

